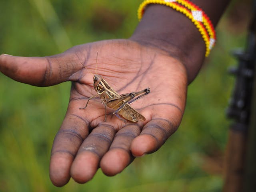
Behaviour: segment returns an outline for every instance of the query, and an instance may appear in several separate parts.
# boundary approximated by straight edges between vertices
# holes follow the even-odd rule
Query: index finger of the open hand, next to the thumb
[[[90,126],[82,117],[73,114],[65,117],[52,145],[50,179],[55,186],[69,181],[71,164],[89,131]]]

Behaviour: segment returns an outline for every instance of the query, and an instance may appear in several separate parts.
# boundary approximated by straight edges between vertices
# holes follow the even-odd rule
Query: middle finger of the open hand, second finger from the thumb
[[[108,151],[116,134],[110,124],[100,124],[84,140],[71,167],[71,176],[78,183],[91,180],[99,168],[102,156]]]

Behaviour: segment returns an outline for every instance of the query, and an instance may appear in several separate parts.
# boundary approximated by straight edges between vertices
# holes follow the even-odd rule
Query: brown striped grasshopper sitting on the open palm
[[[95,70],[96,71],[96,70]],[[120,120],[124,119],[129,120],[131,122],[138,122],[139,120],[145,121],[146,118],[142,116],[139,112],[137,112],[134,108],[132,108],[129,104],[141,98],[142,96],[150,93],[150,88],[146,88],[145,90],[141,90],[139,92],[131,92],[126,94],[119,95],[110,85],[102,78],[102,76],[98,75],[95,72],[93,77],[93,85],[94,89],[97,92],[96,95],[91,96],[86,106],[80,109],[85,109],[88,105],[88,102],[96,97],[100,96],[102,104],[105,106],[105,122],[106,122],[106,106],[115,110],[113,112]],[[126,122],[124,120],[124,122]]]

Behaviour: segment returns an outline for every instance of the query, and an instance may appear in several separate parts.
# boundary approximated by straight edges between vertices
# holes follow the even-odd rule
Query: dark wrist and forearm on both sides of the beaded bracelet
[[[230,0],[193,0],[218,23]],[[131,40],[160,48],[180,60],[187,70],[188,82],[196,77],[204,61],[205,43],[196,26],[184,14],[164,5],[147,6]]]

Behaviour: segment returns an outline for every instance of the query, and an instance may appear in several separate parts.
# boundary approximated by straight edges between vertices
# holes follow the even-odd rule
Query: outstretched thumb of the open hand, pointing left
[[[85,56],[63,53],[51,57],[0,55],[0,71],[10,78],[35,86],[50,86],[70,80],[85,62]]]

